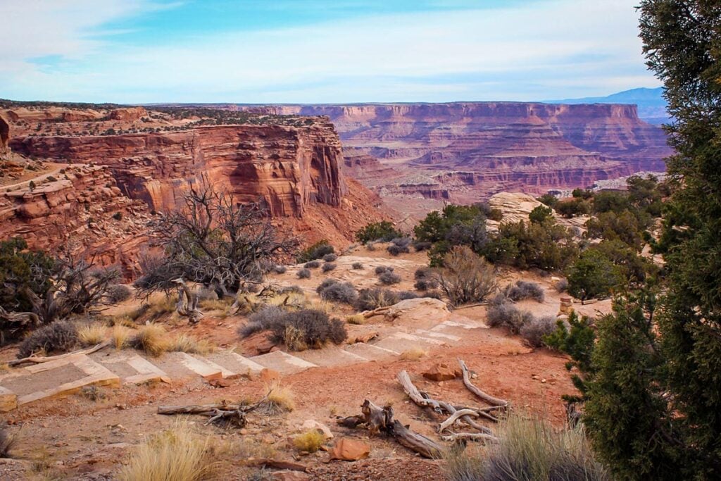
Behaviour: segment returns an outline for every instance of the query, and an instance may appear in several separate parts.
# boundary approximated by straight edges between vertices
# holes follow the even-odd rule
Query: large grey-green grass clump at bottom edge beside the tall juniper
[[[589,480],[611,477],[593,457],[583,425],[554,430],[546,420],[512,413],[498,426],[498,444],[451,451],[448,479]]]

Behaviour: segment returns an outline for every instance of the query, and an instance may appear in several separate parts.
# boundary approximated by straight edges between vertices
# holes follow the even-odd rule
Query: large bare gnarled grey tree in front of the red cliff
[[[272,224],[260,203],[239,203],[210,187],[191,190],[180,209],[161,214],[149,227],[165,255],[146,265],[136,283],[144,294],[184,278],[219,296],[236,296],[262,282],[264,265],[283,260],[298,246],[295,237]]]

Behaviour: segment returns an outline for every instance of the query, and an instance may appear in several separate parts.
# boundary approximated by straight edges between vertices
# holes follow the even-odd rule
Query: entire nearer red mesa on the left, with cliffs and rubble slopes
[[[305,242],[344,247],[355,230],[384,218],[378,196],[342,172],[340,139],[327,118],[190,126],[142,107],[0,113],[14,119],[7,144],[15,158],[56,166],[4,186],[0,237],[48,250],[69,243],[102,265],[120,265],[127,278],[148,247],[148,221],[182,206],[193,188],[258,202]]]

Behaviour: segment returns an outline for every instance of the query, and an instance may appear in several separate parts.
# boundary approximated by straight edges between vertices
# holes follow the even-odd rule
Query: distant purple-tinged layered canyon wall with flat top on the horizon
[[[345,169],[382,198],[423,213],[444,201],[587,187],[633,172],[663,172],[663,129],[635,105],[527,102],[226,105],[275,115],[325,115]]]

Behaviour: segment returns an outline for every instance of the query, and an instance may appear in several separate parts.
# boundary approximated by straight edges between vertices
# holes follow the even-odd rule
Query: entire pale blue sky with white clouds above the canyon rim
[[[632,0],[2,0],[0,97],[543,100],[659,85]]]

